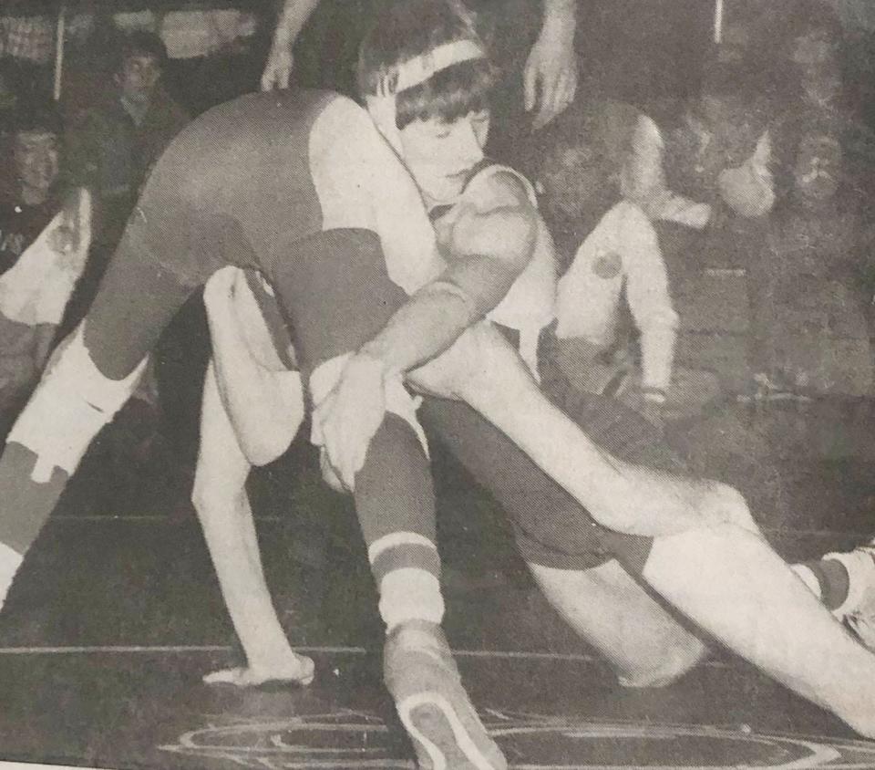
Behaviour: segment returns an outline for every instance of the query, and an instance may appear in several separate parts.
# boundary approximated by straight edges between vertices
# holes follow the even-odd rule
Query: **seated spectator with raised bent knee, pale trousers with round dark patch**
[[[667,189],[661,141],[636,109],[586,99],[537,150],[545,218],[570,265],[557,295],[556,361],[577,387],[618,396],[657,423],[667,402],[690,393],[687,378],[675,378],[678,317],[651,218],[702,227],[710,214]]]

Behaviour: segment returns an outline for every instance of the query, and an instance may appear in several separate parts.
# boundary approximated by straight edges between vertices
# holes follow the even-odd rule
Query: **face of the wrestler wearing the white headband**
[[[458,120],[414,120],[401,130],[404,162],[419,189],[435,202],[455,198],[468,172],[483,160],[489,136],[489,110]]]

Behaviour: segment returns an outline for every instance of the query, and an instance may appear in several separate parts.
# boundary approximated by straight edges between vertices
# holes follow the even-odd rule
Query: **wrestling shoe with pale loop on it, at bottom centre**
[[[386,687],[417,751],[419,770],[506,770],[468,700],[443,631],[411,620],[386,638]]]

